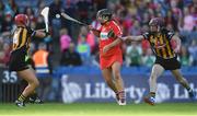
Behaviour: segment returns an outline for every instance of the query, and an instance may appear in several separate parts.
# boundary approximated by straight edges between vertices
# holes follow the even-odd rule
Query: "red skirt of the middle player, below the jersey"
[[[120,55],[112,55],[108,57],[100,56],[100,67],[101,69],[109,68],[115,61],[120,62],[123,65],[123,56]]]

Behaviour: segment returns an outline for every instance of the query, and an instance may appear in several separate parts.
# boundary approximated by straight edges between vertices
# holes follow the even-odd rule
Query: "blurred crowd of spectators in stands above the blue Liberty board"
[[[50,36],[32,38],[31,54],[46,44],[53,67],[99,66],[99,42],[86,27],[59,18],[60,12],[95,28],[100,26],[97,10],[107,8],[119,21],[124,35],[139,35],[149,30],[151,18],[162,16],[166,27],[182,39],[178,59],[185,67],[197,66],[197,1],[196,0],[0,0],[0,67],[7,67],[11,50],[14,15],[25,13],[30,26],[45,27],[40,10],[48,5]],[[149,43],[124,43],[124,66],[151,67],[154,56]]]

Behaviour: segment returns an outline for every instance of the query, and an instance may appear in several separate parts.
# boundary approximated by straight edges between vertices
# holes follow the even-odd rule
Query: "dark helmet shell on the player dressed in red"
[[[112,12],[108,9],[102,9],[97,11],[96,18],[102,18],[103,20],[109,21],[112,19]]]

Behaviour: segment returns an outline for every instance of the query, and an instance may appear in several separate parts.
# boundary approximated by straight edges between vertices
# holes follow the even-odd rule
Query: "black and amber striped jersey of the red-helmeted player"
[[[12,51],[21,48],[27,50],[33,35],[35,35],[35,31],[30,27],[18,26],[13,33]]]

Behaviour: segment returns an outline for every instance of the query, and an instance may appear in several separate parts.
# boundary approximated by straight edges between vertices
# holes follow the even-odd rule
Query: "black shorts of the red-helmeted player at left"
[[[22,71],[28,69],[28,63],[25,61],[26,50],[24,48],[11,53],[9,70]]]

